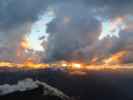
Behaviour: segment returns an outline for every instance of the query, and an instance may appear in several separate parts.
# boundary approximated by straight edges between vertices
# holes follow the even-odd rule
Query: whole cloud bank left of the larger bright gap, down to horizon
[[[39,15],[45,13],[48,2],[48,0],[0,1],[0,48],[5,48],[0,58],[15,60],[20,42],[30,33],[32,24],[38,20]]]

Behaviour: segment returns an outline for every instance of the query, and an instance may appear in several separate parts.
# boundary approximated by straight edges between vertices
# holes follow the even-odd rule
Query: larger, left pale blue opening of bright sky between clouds
[[[35,51],[44,51],[45,49],[41,45],[43,40],[39,40],[40,37],[45,37],[45,40],[47,41],[48,33],[47,33],[47,23],[52,21],[54,18],[54,15],[51,16],[49,14],[44,14],[42,16],[39,16],[39,20],[33,23],[31,27],[31,31],[29,32],[27,39],[28,43],[30,45],[30,48]]]

